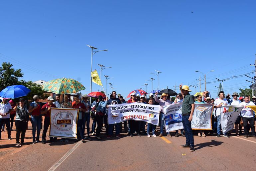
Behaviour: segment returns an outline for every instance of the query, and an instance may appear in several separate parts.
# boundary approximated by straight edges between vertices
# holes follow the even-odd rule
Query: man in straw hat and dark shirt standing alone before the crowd
[[[194,113],[194,98],[189,94],[191,91],[189,86],[180,85],[181,94],[183,96],[183,104],[182,104],[182,124],[185,130],[186,135],[186,144],[181,145],[181,147],[190,147],[190,151],[194,151],[194,137],[193,131],[191,128],[191,121]]]

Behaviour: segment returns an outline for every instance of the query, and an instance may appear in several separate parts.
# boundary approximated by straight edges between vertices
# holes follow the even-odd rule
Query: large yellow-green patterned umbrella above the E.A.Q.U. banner
[[[84,90],[84,86],[74,79],[60,78],[48,81],[42,85],[42,89],[56,94],[71,94]]]

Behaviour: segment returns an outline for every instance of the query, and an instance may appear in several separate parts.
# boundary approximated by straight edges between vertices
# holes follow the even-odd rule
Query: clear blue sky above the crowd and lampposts
[[[196,86],[195,70],[214,69],[207,82],[255,70],[250,66],[256,53],[255,5],[252,0],[2,1],[0,62],[21,68],[25,80],[76,79],[86,88],[82,93],[89,93],[89,44],[108,49],[93,55],[92,68],[112,67],[103,70],[103,85],[103,75],[114,77],[108,83],[124,96],[145,89],[145,83],[150,92],[152,83],[145,81],[150,77],[157,89],[157,76],[149,74],[155,70],[162,72],[160,89],[175,90],[175,82]],[[245,79],[224,81],[225,93],[249,88]],[[214,98],[218,85],[207,84]],[[98,90],[93,84],[92,91]]]

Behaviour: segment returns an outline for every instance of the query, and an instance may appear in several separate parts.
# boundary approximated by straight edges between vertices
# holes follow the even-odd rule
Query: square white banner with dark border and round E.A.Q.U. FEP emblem
[[[49,136],[76,138],[79,109],[51,108]]]

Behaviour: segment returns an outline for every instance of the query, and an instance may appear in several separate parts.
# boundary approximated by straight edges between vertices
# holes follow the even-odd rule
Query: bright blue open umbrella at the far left
[[[24,85],[8,86],[0,92],[2,98],[15,99],[22,96],[27,96],[31,90]]]

